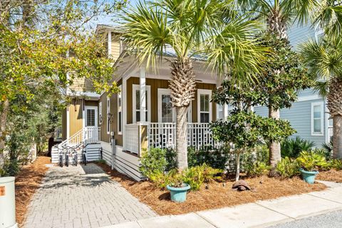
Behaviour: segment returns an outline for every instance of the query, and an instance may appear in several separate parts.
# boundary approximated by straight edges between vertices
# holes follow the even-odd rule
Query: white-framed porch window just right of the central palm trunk
[[[210,103],[212,90],[197,90],[198,119],[199,123],[212,121],[212,104]]]

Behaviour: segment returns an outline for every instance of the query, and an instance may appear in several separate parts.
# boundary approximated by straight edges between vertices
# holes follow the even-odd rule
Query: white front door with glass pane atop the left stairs
[[[85,124],[84,138],[86,142],[98,142],[98,107],[86,106]]]

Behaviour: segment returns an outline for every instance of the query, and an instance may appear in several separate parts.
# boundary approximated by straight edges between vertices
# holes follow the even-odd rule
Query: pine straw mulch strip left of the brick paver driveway
[[[48,170],[48,163],[50,157],[37,157],[33,163],[21,167],[21,171],[16,175],[16,221],[19,227],[23,225],[28,204]]]

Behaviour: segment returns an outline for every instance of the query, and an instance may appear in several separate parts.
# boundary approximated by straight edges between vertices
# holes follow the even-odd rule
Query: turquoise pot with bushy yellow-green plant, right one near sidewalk
[[[299,170],[303,180],[309,184],[314,184],[316,175],[318,175],[318,168],[327,165],[326,158],[314,152],[301,152],[297,158],[297,162],[301,166]]]

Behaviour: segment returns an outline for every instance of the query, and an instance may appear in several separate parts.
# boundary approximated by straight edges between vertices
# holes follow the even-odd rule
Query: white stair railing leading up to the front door
[[[77,133],[71,135],[68,139],[64,140],[58,147],[61,148],[65,145],[78,145],[81,143],[97,143],[100,141],[100,128],[98,127],[86,127],[78,130]]]

